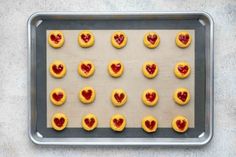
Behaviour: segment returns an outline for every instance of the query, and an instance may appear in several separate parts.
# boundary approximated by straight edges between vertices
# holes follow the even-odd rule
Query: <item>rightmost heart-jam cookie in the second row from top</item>
[[[191,67],[187,62],[176,63],[174,68],[174,73],[176,77],[184,79],[189,76],[190,72],[191,72]]]

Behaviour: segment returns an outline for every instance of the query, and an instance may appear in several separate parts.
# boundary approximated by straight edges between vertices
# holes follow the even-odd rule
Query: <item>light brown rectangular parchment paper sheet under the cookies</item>
[[[81,127],[81,118],[93,113],[98,118],[98,127],[109,127],[113,114],[120,113],[127,119],[127,127],[141,127],[141,119],[154,115],[159,127],[171,127],[172,119],[184,115],[189,119],[189,126],[194,127],[194,30],[187,30],[192,35],[192,43],[186,49],[175,44],[177,32],[182,30],[122,30],[128,36],[128,43],[123,49],[111,45],[111,34],[117,30],[92,30],[95,44],[91,48],[81,48],[77,43],[80,30],[62,30],[65,43],[62,48],[54,49],[47,44],[47,68],[53,60],[62,60],[67,66],[67,74],[62,79],[51,77],[47,69],[47,127],[51,127],[51,117],[56,112],[68,116],[68,127]],[[143,44],[146,32],[156,31],[161,42],[156,49],[148,49]],[[186,30],[185,30],[186,31]],[[47,35],[50,30],[47,30]],[[85,79],[78,75],[77,66],[81,60],[89,59],[95,64],[95,73]],[[113,59],[124,64],[124,74],[112,78],[107,72],[107,65]],[[159,74],[154,79],[143,76],[141,67],[145,61],[153,60],[159,66]],[[178,61],[187,61],[191,74],[181,80],[175,77],[173,68]],[[78,92],[84,86],[96,90],[96,100],[90,105],[82,104]],[[61,87],[67,93],[67,101],[62,106],[54,106],[49,100],[53,88]],[[176,105],[172,95],[176,88],[186,87],[190,90],[191,100],[186,106]],[[123,107],[114,107],[110,96],[114,88],[123,88],[128,94],[128,101]],[[141,94],[147,88],[155,88],[159,93],[159,102],[155,107],[147,107],[141,101]]]

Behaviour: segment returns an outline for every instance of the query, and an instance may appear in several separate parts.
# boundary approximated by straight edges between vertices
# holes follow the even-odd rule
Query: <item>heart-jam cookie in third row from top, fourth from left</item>
[[[147,106],[155,106],[158,102],[158,93],[155,89],[146,89],[142,94],[142,101]]]

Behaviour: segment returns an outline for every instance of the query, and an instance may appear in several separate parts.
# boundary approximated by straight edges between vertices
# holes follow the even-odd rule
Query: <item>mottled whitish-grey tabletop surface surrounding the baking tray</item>
[[[207,11],[215,21],[215,127],[204,147],[37,146],[27,132],[28,17],[37,11]],[[0,0],[0,156],[236,155],[236,1]]]

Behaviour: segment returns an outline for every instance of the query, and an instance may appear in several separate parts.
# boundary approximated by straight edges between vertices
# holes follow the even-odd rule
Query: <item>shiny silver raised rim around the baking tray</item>
[[[31,71],[32,71],[32,42],[31,42],[31,31],[32,31],[32,22],[40,16],[202,16],[209,21],[209,65],[206,64],[206,89],[208,90],[209,97],[206,97],[206,112],[208,111],[208,121],[207,131],[205,134],[199,136],[199,138],[43,138],[39,133],[33,132],[32,129],[32,105],[31,104]],[[28,36],[28,134],[31,141],[35,144],[39,145],[184,145],[184,146],[200,146],[209,143],[213,137],[213,107],[214,107],[214,54],[213,54],[213,46],[214,46],[214,22],[212,17],[206,12],[36,12],[33,13],[27,22],[27,36]],[[208,76],[208,77],[207,77]],[[207,86],[208,85],[208,86]]]

